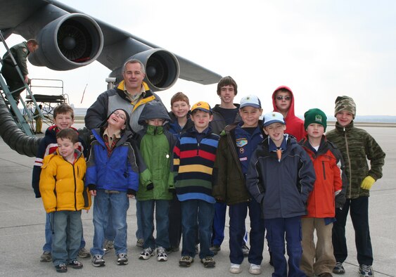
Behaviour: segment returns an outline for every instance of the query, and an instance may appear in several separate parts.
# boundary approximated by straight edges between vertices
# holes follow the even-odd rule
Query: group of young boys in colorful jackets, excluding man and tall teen
[[[92,130],[89,155],[81,154],[86,148],[79,149],[77,132],[70,129],[72,120],[58,121],[62,112],[56,110],[56,125],[46,131],[41,143],[41,148],[52,150],[41,155],[39,186],[33,183],[51,223],[52,248],[44,253],[52,253],[56,270],[82,267],[77,261],[84,247],[80,214],[89,209],[90,194],[94,195],[94,266],[105,264],[109,218],[117,264],[128,263],[126,214],[129,198],[136,195],[143,236],[140,259],[156,254],[159,262],[167,261],[168,251],[179,250],[182,233],[179,266],[191,266],[198,243],[200,262],[215,266],[212,224],[218,202],[229,205],[231,273],[242,271],[248,211],[251,274],[261,273],[265,232],[273,276],[344,273],[345,221],[350,209],[354,226],[359,225],[355,233],[360,274],[373,276],[367,197],[382,176],[385,153],[366,131],[353,127],[352,98],[336,99],[336,129],[326,136],[323,111],[308,110],[305,121],[295,117],[290,88],[279,87],[272,99],[274,112],[260,120],[260,99],[243,97],[238,105],[241,122],[227,124],[220,135],[212,131],[210,105],[200,101],[190,110],[189,99],[181,93],[172,98],[172,120],[162,103],[147,103],[139,117],[144,129],[137,134],[129,127],[127,112],[115,110],[101,128]],[[65,114],[72,118],[72,111]],[[53,132],[51,147],[45,141],[49,131]],[[34,176],[37,179],[37,172]],[[364,211],[354,212],[359,209]],[[66,230],[70,230],[67,236]]]

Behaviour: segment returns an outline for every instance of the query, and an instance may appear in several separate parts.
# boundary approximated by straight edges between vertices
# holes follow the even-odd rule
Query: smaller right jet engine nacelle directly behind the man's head
[[[170,89],[179,78],[179,62],[169,51],[149,49],[136,53],[134,56],[127,58],[127,60],[132,58],[140,60],[146,67],[146,78],[144,78],[144,81],[152,91]],[[123,79],[122,70],[122,67],[117,68],[117,70],[111,72],[110,77],[116,77],[117,82],[120,82]]]

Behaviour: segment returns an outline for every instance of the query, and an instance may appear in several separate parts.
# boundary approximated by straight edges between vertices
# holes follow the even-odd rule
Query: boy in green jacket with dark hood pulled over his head
[[[144,129],[139,131],[139,149],[147,170],[141,172],[136,198],[143,231],[143,251],[139,259],[150,259],[157,252],[158,262],[167,261],[169,243],[169,205],[174,191],[171,174],[172,151],[176,139],[163,127],[170,117],[160,102],[147,103],[139,117]],[[154,232],[154,207],[157,236]]]

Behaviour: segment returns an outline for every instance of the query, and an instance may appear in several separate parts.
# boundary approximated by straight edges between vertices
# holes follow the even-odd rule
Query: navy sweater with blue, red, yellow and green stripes
[[[219,136],[210,128],[198,133],[194,127],[181,134],[174,147],[174,181],[177,198],[204,200],[215,203],[212,197],[212,171]]]

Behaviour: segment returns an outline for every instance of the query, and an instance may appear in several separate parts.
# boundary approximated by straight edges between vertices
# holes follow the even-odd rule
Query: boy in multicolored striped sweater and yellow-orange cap
[[[197,230],[200,262],[205,267],[215,266],[213,252],[209,248],[216,202],[212,196],[212,171],[219,136],[213,134],[209,127],[212,119],[208,103],[200,101],[193,105],[191,120],[194,126],[181,134],[174,147],[174,181],[177,198],[181,202],[183,226],[180,266],[190,266],[193,262]]]

